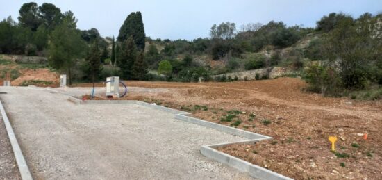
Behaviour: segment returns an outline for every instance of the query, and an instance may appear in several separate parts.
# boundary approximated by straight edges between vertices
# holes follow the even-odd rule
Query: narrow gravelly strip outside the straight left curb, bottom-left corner
[[[21,179],[15,156],[10,146],[6,126],[0,115],[0,179]]]

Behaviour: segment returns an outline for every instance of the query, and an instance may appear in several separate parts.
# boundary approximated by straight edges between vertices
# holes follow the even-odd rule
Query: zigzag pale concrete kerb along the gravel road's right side
[[[76,99],[76,98],[74,98],[74,99]],[[214,149],[216,147],[222,147],[225,145],[232,145],[232,144],[238,144],[238,143],[252,144],[252,143],[256,143],[260,140],[272,139],[272,137],[264,136],[264,135],[261,135],[258,133],[252,133],[249,131],[244,131],[242,129],[235,129],[233,127],[224,126],[224,125],[216,124],[213,122],[208,122],[205,120],[200,120],[198,118],[188,116],[191,113],[188,113],[185,111],[178,111],[176,109],[167,108],[164,106],[158,106],[156,104],[149,104],[149,103],[143,102],[143,101],[135,101],[135,100],[129,100],[129,101],[126,101],[126,100],[96,100],[96,101],[86,100],[86,101],[82,101],[80,99],[77,99],[75,103],[76,104],[138,104],[141,106],[147,106],[150,108],[155,108],[158,110],[166,111],[169,113],[174,113],[176,119],[182,120],[184,122],[189,122],[192,124],[198,124],[201,126],[206,126],[208,128],[211,128],[211,129],[216,129],[218,131],[223,131],[225,133],[231,133],[231,134],[236,135],[236,136],[242,136],[244,138],[248,138],[249,140],[241,140],[241,141],[236,141],[236,142],[224,142],[224,143],[215,144],[215,145],[204,145],[201,147],[200,152],[201,152],[201,154],[203,154],[207,158],[211,158],[215,161],[218,161],[219,163],[229,165],[230,167],[233,167],[233,168],[239,170],[240,172],[248,173],[250,177],[259,178],[259,179],[280,179],[280,180],[281,179],[283,179],[283,180],[291,179],[290,177],[285,177],[282,174],[273,172],[271,170],[267,170],[264,167],[254,165],[254,164],[249,163],[247,161],[244,161],[240,158],[236,158],[234,156],[231,156],[231,155],[226,154],[224,152],[219,152],[218,150]]]

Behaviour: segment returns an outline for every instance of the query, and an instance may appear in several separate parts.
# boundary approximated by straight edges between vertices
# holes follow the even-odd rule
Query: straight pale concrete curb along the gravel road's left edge
[[[8,116],[6,114],[6,110],[3,107],[3,104],[0,101],[0,111],[1,116],[3,117],[4,124],[6,125],[6,130],[8,133],[8,137],[10,140],[10,145],[12,145],[13,154],[15,154],[15,159],[17,166],[19,167],[19,172],[23,180],[32,180],[31,172],[29,172],[28,165],[22,155],[22,149],[19,146],[19,142],[17,142],[17,138],[15,136],[15,132],[13,132],[12,126],[8,120]]]

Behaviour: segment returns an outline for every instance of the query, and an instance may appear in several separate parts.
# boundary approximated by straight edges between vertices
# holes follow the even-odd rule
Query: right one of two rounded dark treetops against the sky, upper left
[[[53,30],[58,24],[60,24],[63,14],[61,13],[60,8],[57,8],[52,3],[43,3],[40,7],[38,7],[40,11],[40,18],[42,20],[42,24],[47,26],[49,31]]]

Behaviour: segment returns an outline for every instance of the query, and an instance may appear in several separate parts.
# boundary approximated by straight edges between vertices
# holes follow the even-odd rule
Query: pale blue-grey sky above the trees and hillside
[[[0,18],[17,19],[23,0],[0,0]],[[222,22],[241,24],[283,21],[287,26],[315,27],[322,16],[346,13],[358,17],[382,12],[382,0],[45,0],[62,12],[72,10],[81,30],[97,28],[101,36],[117,36],[124,19],[140,11],[146,35],[155,39],[207,38]]]

